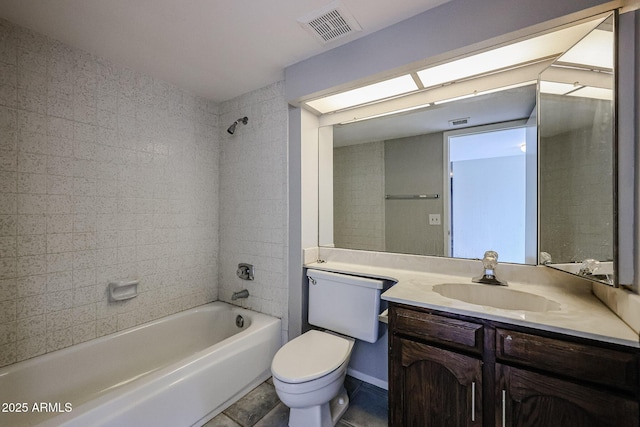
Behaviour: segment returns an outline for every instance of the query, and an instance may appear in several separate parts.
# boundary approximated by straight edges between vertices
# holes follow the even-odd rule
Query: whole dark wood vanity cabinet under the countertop
[[[392,427],[640,426],[638,349],[391,304]]]

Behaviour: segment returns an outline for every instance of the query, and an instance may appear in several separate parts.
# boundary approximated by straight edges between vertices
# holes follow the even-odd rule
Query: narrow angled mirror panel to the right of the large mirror
[[[540,251],[547,265],[614,283],[614,20],[540,75]]]

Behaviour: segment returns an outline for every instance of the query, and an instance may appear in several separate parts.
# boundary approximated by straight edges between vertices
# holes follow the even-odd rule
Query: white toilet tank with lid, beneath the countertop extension
[[[309,323],[374,343],[380,330],[380,295],[384,280],[307,270]]]

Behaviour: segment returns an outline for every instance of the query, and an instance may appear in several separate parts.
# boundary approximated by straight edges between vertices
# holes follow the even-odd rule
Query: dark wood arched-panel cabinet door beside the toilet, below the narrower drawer
[[[482,361],[394,339],[390,420],[397,427],[482,425]]]

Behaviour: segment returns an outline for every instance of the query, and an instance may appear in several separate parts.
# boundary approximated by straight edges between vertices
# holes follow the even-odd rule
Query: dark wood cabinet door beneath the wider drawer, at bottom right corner
[[[497,427],[639,425],[638,402],[600,389],[499,363],[496,387]]]

